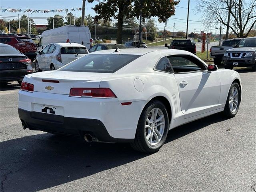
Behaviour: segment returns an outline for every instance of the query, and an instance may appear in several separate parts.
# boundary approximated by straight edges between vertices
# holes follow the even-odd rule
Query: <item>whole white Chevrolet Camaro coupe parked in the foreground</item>
[[[26,75],[18,113],[24,129],[130,142],[151,153],[172,128],[218,112],[234,117],[241,92],[236,71],[207,65],[192,53],[117,48]]]

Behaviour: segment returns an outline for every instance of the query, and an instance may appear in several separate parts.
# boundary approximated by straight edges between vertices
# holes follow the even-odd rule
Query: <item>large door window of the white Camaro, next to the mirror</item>
[[[206,70],[202,62],[192,56],[168,56],[174,73]]]

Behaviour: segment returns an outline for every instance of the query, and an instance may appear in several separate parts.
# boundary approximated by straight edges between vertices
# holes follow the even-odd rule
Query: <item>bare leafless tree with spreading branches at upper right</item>
[[[220,22],[238,38],[247,37],[256,24],[256,1],[253,0],[199,0],[198,9],[204,12],[202,20],[206,27],[216,27]]]

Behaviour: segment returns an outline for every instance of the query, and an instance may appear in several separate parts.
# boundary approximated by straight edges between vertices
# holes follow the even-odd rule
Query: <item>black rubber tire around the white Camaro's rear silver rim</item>
[[[153,110],[154,108],[158,108],[158,110],[160,109],[160,111],[164,115],[164,120],[163,120],[163,122],[164,122],[164,128],[163,128],[164,132],[162,134],[161,140],[157,144],[151,145],[148,142],[148,140],[146,139],[147,130],[145,128],[145,124],[146,124],[146,119],[150,115],[151,110]],[[144,152],[144,153],[154,153],[154,152],[157,152],[158,150],[160,150],[160,148],[163,146],[163,144],[166,140],[166,137],[167,137],[168,127],[169,127],[168,122],[169,122],[168,114],[167,114],[167,110],[166,110],[166,107],[164,106],[164,104],[160,101],[157,101],[157,100],[149,102],[145,106],[144,110],[142,111],[142,114],[140,115],[140,119],[139,119],[137,130],[136,130],[135,139],[134,139],[134,142],[131,143],[132,148],[134,148],[134,150],[136,150],[136,151]],[[156,127],[156,129],[158,129],[158,128]],[[152,137],[153,137],[153,134],[152,134]],[[154,136],[154,138],[155,138],[155,136]]]

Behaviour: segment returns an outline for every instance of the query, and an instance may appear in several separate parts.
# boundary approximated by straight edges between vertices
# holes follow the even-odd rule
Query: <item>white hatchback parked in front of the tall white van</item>
[[[78,43],[51,43],[37,52],[36,72],[56,70],[62,66],[88,54],[85,46]]]

